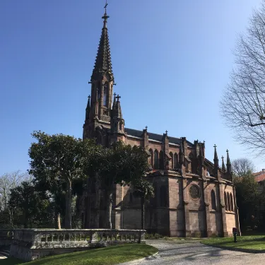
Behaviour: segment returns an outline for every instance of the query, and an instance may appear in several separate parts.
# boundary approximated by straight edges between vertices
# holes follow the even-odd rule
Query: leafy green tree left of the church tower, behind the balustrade
[[[72,184],[76,179],[86,177],[83,173],[85,153],[88,153],[87,141],[73,136],[45,134],[34,131],[33,138],[37,140],[29,149],[30,174],[35,181],[46,184],[46,189],[64,189],[65,192],[65,228],[71,228]],[[87,154],[86,154],[87,155]],[[87,155],[89,156],[89,155]],[[44,187],[45,188],[45,187]],[[53,192],[53,189],[50,189]]]

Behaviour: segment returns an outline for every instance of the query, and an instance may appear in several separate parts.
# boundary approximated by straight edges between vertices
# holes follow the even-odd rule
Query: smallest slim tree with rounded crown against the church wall
[[[154,189],[150,182],[146,179],[137,179],[133,184],[134,194],[141,199],[141,229],[144,230],[145,210],[144,204],[147,199],[153,198]]]

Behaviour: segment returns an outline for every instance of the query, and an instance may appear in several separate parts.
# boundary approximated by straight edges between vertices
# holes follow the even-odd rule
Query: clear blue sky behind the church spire
[[[30,133],[82,137],[104,0],[0,1],[0,175],[28,169]],[[260,0],[109,0],[112,66],[126,126],[251,158],[222,122],[238,33]]]

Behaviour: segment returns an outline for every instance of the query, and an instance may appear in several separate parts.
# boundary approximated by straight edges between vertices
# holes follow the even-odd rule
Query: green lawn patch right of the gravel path
[[[253,252],[265,252],[265,236],[264,235],[249,235],[237,237],[237,243],[234,243],[233,237],[213,237],[207,240],[202,240],[201,243],[211,245],[213,247],[224,247],[229,249],[241,249]]]

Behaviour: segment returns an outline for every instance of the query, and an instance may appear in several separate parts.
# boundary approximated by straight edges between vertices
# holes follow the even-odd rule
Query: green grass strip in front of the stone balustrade
[[[149,245],[128,244],[49,256],[26,263],[12,258],[1,259],[1,265],[112,265],[148,257],[155,252],[158,249]]]

